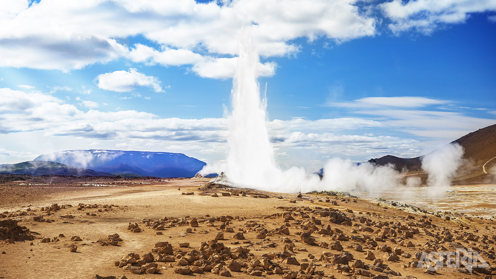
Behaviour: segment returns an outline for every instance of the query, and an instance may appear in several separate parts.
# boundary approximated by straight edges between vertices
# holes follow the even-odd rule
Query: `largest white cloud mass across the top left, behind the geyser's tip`
[[[339,43],[373,36],[377,20],[355,3],[42,0],[29,6],[28,0],[9,0],[0,9],[0,67],[69,71],[124,57],[147,65],[192,65],[200,76],[226,78],[229,71],[215,67],[238,54],[243,24],[262,57],[294,55],[300,46],[291,41],[300,37]],[[157,49],[119,43],[137,35]],[[274,63],[260,66],[262,75],[270,76],[274,69]]]

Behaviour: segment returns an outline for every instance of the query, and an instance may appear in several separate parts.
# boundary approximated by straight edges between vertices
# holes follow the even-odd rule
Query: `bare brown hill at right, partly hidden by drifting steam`
[[[496,178],[496,174],[493,174],[496,172],[496,124],[469,133],[451,143],[453,142],[459,143],[464,149],[463,164],[458,169],[453,183],[494,183]],[[421,167],[422,157],[400,158],[386,155],[371,159],[369,162],[374,162],[378,165],[393,164],[398,171],[407,171],[408,174],[419,173],[419,177],[425,181],[427,174],[422,174],[424,172]],[[484,172],[483,166],[485,166],[485,170],[488,173]]]

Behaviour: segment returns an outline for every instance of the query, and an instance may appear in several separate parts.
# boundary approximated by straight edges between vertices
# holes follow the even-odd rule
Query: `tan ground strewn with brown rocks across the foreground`
[[[47,204],[4,208],[0,278],[496,277],[490,220],[204,185],[78,188],[73,199],[64,189],[57,204],[55,193]],[[489,268],[417,268],[422,252],[456,248],[477,251]]]

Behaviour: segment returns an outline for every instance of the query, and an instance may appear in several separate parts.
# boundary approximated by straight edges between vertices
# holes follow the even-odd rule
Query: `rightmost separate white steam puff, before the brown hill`
[[[443,193],[462,163],[463,147],[457,142],[444,145],[421,158],[422,169],[429,173],[431,196]]]

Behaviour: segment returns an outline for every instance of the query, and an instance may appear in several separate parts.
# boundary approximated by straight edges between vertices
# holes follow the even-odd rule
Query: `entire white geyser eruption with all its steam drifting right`
[[[212,181],[282,193],[360,189],[378,196],[382,191],[398,186],[420,184],[418,177],[412,177],[407,179],[407,185],[401,185],[399,172],[392,165],[379,166],[369,162],[356,164],[340,158],[327,161],[322,179],[316,174],[308,175],[304,168],[281,170],[274,161],[265,125],[267,103],[266,99],[260,98],[257,83],[258,54],[254,42],[243,29],[240,35],[240,56],[231,91],[233,111],[227,117],[230,129],[229,155],[225,162],[203,167],[200,175],[224,172],[223,177]],[[426,155],[422,165],[430,173],[429,184],[435,189],[449,186],[462,155],[463,150],[457,144]]]

